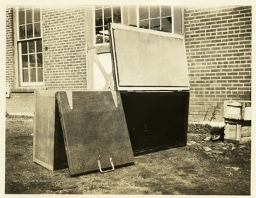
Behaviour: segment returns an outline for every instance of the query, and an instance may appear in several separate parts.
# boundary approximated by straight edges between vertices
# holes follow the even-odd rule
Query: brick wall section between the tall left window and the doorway
[[[43,8],[42,17],[46,87],[85,90],[84,8]]]

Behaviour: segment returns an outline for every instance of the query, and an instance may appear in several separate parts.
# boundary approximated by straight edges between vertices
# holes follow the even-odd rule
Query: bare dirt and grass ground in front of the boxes
[[[203,141],[135,157],[113,172],[70,177],[33,163],[33,118],[6,118],[6,194],[250,195],[250,144]]]

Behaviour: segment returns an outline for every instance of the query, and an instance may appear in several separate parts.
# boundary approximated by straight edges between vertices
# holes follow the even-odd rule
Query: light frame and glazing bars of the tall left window
[[[24,6],[25,8],[26,6]],[[37,36],[37,37],[34,37],[34,31],[33,31],[33,37],[32,38],[22,38],[20,39],[20,31],[19,31],[19,16],[18,16],[18,11],[19,11],[19,6],[16,6],[16,9],[15,9],[15,15],[16,15],[16,20],[15,20],[15,23],[16,23],[16,39],[15,39],[15,45],[16,45],[16,50],[17,50],[17,67],[18,67],[18,70],[17,70],[17,73],[18,75],[16,77],[18,77],[18,84],[19,86],[21,87],[43,87],[45,82],[44,82],[44,61],[43,61],[43,23],[42,23],[42,8],[41,7],[34,7],[34,6],[28,6],[28,7],[31,7],[32,10],[34,9],[40,9],[40,31],[41,31],[41,35],[40,36]],[[26,11],[24,12],[25,15],[24,15],[24,18],[26,18]],[[32,11],[32,22],[31,24],[34,24],[34,12]],[[25,22],[25,26],[26,26],[26,22]],[[25,33],[26,33],[26,28],[25,28]],[[35,41],[35,40],[41,40],[41,45],[42,45],[42,52],[40,53],[42,55],[42,73],[43,73],[43,81],[42,82],[23,82],[23,68],[22,68],[22,53],[21,53],[21,43],[23,42],[29,42],[29,41]],[[35,48],[36,48],[36,45],[35,45]],[[27,55],[29,56],[30,53],[28,52]],[[36,58],[36,55],[37,55],[37,52],[34,53],[35,55],[35,58]],[[37,61],[36,61],[37,62]],[[29,70],[29,69],[28,69]],[[36,66],[35,66],[35,70],[36,70],[36,78],[37,78],[37,72],[38,72],[38,66],[37,66],[37,63],[36,63]],[[30,79],[30,75],[28,75],[28,79]]]

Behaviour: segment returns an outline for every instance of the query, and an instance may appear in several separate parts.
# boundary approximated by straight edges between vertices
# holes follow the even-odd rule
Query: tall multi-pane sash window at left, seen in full
[[[21,86],[43,85],[41,9],[19,7],[17,26]]]

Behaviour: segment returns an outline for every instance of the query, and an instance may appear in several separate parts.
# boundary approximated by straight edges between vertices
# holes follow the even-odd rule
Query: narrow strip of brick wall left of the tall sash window
[[[14,87],[14,31],[13,11],[6,8],[6,82]]]

